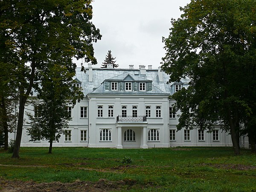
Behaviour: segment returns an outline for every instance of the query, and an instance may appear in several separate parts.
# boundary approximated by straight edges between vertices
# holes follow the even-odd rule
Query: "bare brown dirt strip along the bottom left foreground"
[[[134,185],[143,189],[143,186],[138,185],[137,181],[131,179],[119,181],[100,179],[97,182],[76,180],[73,183],[36,183],[34,181],[4,180],[0,178],[0,192],[108,192],[127,190]]]

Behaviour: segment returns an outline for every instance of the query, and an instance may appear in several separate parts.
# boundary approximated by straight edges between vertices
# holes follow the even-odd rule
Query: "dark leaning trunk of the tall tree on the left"
[[[20,142],[22,137],[22,128],[23,128],[23,118],[24,118],[24,110],[25,110],[25,103],[27,96],[22,95],[20,93],[20,105],[19,105],[19,115],[18,115],[18,123],[17,123],[17,133],[16,133],[16,140],[14,145],[14,150],[12,154],[12,158],[20,158]]]

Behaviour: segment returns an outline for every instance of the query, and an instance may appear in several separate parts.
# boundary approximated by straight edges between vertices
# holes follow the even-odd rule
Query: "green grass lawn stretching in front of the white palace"
[[[33,181],[94,184],[116,182],[109,190],[256,191],[256,154],[232,148],[20,148],[20,159],[0,149],[3,183]],[[131,157],[129,165],[123,157]],[[103,179],[103,180],[102,180]],[[122,181],[122,182],[121,182]],[[80,183],[81,184],[81,183]]]

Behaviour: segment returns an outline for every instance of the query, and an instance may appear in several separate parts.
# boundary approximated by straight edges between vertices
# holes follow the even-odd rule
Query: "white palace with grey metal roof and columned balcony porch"
[[[207,131],[176,130],[178,113],[172,111],[175,100],[169,96],[187,87],[189,79],[166,84],[169,76],[158,69],[140,65],[134,69],[92,68],[86,73],[77,68],[74,86],[82,87],[84,99],[74,108],[68,107],[72,120],[66,134],[53,146],[83,146],[94,148],[154,148],[175,146],[232,146],[230,134],[218,126]],[[34,111],[32,105],[27,107]],[[28,118],[25,116],[26,120]],[[26,122],[26,121],[25,121]],[[29,141],[23,125],[21,146],[45,146],[45,140]],[[10,134],[15,139],[15,133]],[[241,147],[248,147],[245,137]]]

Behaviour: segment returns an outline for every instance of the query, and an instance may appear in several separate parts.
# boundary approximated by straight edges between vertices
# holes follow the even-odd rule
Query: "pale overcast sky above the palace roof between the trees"
[[[119,68],[160,66],[165,55],[162,37],[168,37],[171,18],[181,15],[180,6],[190,0],[94,0],[93,24],[102,39],[94,44],[101,67],[108,50]]]

